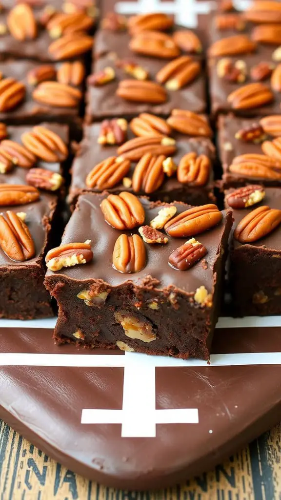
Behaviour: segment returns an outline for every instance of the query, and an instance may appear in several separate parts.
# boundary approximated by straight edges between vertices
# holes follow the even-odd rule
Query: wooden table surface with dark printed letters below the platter
[[[0,421],[0,500],[280,500],[281,424],[223,465],[157,492],[106,488],[67,470]]]

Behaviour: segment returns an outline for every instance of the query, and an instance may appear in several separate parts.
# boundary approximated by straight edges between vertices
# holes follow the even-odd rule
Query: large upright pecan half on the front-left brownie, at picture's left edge
[[[34,241],[27,225],[9,210],[0,214],[0,247],[10,259],[17,262],[35,255]]]

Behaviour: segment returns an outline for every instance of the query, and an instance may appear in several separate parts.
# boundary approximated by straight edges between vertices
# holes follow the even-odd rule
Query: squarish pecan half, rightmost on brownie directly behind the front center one
[[[205,154],[194,151],[184,154],[177,167],[177,180],[182,184],[204,186],[209,178],[210,159]]]

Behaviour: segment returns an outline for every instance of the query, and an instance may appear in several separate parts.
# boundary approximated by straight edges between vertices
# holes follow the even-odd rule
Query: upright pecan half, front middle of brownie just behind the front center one
[[[164,180],[164,159],[163,154],[143,154],[132,174],[132,188],[135,192],[143,190],[149,194],[160,187]]]

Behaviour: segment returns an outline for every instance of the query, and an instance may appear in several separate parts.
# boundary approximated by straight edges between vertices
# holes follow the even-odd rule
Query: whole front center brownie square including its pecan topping
[[[212,204],[82,194],[46,256],[54,338],[207,359],[231,224],[231,212]]]

